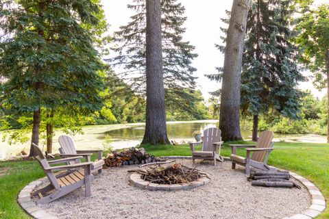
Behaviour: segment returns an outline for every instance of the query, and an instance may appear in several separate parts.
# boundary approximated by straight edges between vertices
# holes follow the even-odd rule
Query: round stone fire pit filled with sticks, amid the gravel
[[[210,178],[205,172],[179,163],[154,166],[145,170],[130,170],[130,185],[146,190],[191,190],[206,185]]]

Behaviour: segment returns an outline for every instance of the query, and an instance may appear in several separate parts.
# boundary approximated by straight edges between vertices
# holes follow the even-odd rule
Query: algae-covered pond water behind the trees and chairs
[[[217,120],[199,120],[191,122],[167,122],[169,140],[175,143],[187,143],[193,141],[193,131],[203,131],[208,127],[216,127]],[[77,149],[103,149],[112,146],[114,149],[123,149],[136,146],[141,143],[144,136],[145,124],[117,124],[117,125],[90,125],[83,127],[84,134],[73,136]],[[56,131],[53,137],[53,153],[58,153],[60,144],[58,137],[63,135]],[[241,131],[244,140],[251,140],[251,131]],[[0,133],[0,139],[3,133]],[[317,142],[326,143],[326,136],[317,135],[284,135],[274,134],[274,141],[286,142]],[[8,145],[8,142],[0,142],[0,159],[20,153],[22,150],[29,152],[30,143]],[[45,142],[40,142],[42,151],[46,150]]]

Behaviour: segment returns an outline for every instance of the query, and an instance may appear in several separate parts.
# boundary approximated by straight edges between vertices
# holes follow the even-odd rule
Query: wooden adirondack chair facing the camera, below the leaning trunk
[[[216,160],[223,162],[221,157],[221,130],[217,128],[209,128],[204,130],[204,136],[200,142],[191,142],[190,149],[192,151],[193,163],[195,159],[213,160],[216,166]],[[195,145],[202,144],[202,151],[195,151]]]

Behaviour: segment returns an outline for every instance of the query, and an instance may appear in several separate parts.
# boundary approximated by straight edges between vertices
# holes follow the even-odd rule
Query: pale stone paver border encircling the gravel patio
[[[169,159],[191,159],[191,156],[169,156],[166,157]],[[230,158],[223,157],[224,160],[230,161]],[[321,194],[319,189],[310,181],[305,179],[304,177],[297,175],[295,172],[290,172],[290,175],[297,179],[297,181],[300,181],[306,189],[308,190],[312,203],[311,205],[302,213],[295,214],[294,216],[291,216],[289,218],[283,218],[283,219],[312,219],[317,217],[321,212],[323,212],[326,209],[326,199]],[[141,179],[138,175],[138,178]],[[23,190],[19,193],[19,197],[17,199],[19,205],[29,214],[29,216],[32,216],[32,218],[36,219],[58,219],[55,216],[52,216],[51,214],[47,213],[46,211],[42,210],[40,207],[38,207],[34,201],[31,199],[31,193],[32,191],[38,187],[44,181],[47,179],[47,177],[43,177],[41,179],[38,179],[36,181],[32,181],[32,183],[29,183],[29,185],[26,185]],[[207,179],[207,178],[206,178]],[[142,179],[141,179],[142,180]],[[156,184],[157,185],[157,184]],[[181,185],[182,186],[182,185]],[[138,186],[136,186],[138,187]],[[171,190],[174,190],[173,188]]]

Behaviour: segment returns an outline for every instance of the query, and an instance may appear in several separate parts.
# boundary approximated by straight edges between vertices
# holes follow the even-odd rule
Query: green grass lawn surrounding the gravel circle
[[[224,144],[221,155],[230,156],[228,144]],[[191,155],[187,144],[143,147],[148,153],[157,156]],[[329,144],[278,142],[274,144],[274,148],[269,158],[270,165],[297,172],[313,181],[326,200],[329,200]],[[243,149],[238,153],[244,155]],[[96,159],[96,156],[93,156],[93,159]],[[25,185],[45,176],[39,164],[35,161],[0,162],[0,168],[10,168],[8,175],[0,177],[0,218],[29,218],[19,207],[16,198]],[[326,209],[319,218],[329,218],[329,210]]]

